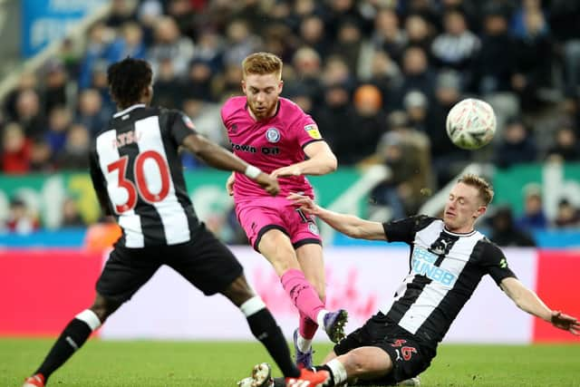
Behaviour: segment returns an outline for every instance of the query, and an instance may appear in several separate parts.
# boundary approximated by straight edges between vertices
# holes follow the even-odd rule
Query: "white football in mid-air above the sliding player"
[[[445,123],[451,142],[464,150],[477,150],[496,133],[496,113],[488,102],[475,98],[455,104]]]

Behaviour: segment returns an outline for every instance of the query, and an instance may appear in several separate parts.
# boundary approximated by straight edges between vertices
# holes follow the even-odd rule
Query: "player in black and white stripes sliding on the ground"
[[[392,385],[425,371],[450,324],[486,274],[520,309],[579,334],[578,320],[550,309],[522,285],[501,249],[474,228],[493,198],[488,182],[478,176],[459,179],[449,192],[442,219],[415,216],[382,224],[329,211],[304,195],[288,198],[304,213],[349,237],[401,241],[412,247],[410,273],[392,304],[336,344],[324,365],[315,367],[331,373],[324,386]],[[252,377],[239,382],[240,387],[284,385],[269,376],[266,363],[255,369]]]

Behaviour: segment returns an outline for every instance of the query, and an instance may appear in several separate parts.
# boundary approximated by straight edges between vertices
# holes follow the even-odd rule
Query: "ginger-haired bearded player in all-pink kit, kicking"
[[[301,192],[314,198],[306,175],[324,175],[336,157],[316,123],[294,102],[280,97],[283,63],[273,53],[252,53],[243,61],[244,96],[224,104],[221,116],[234,153],[278,178],[280,195],[270,198],[250,175],[233,173],[227,190],[250,244],[272,264],[300,313],[295,331],[296,362],[312,365],[312,339],[323,326],[334,343],[343,338],[347,313],[324,307],[324,261],[314,217],[287,198]]]

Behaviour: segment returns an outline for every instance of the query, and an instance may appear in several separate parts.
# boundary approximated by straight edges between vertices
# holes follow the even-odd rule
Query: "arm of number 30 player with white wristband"
[[[260,187],[266,190],[272,196],[277,195],[280,191],[278,181],[249,165],[246,161],[241,160],[235,154],[220,147],[197,133],[191,133],[182,141],[184,147],[193,152],[199,159],[206,161],[210,166],[217,169],[233,170],[245,173],[250,179],[256,181]]]

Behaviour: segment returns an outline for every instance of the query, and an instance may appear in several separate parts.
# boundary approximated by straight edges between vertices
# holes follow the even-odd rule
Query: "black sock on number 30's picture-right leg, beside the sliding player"
[[[284,376],[296,377],[300,375],[300,370],[292,362],[284,334],[275,323],[275,319],[269,310],[263,308],[254,314],[248,315],[247,324],[250,325],[250,330],[256,336],[256,339],[264,344],[272,359],[284,373]]]

